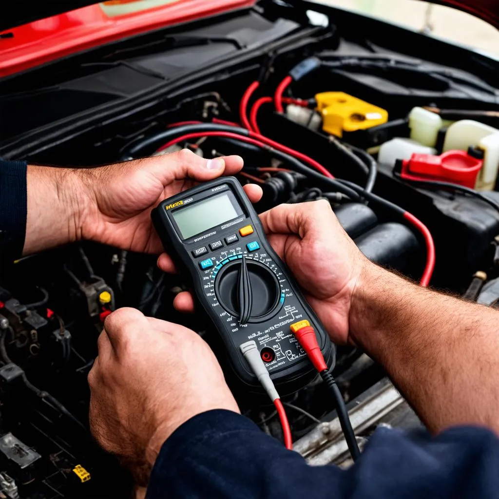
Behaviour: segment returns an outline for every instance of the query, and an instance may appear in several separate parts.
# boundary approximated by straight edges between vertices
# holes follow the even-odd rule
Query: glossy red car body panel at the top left
[[[99,4],[23,24],[0,38],[0,77],[134,34],[253,5],[255,0],[178,0],[109,17]]]

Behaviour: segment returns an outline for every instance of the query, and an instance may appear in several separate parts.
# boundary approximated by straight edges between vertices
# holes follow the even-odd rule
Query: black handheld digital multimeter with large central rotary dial
[[[332,367],[334,346],[268,244],[237,179],[222,177],[184,191],[163,201],[151,216],[165,250],[189,271],[197,299],[243,382],[259,386],[239,348],[249,340],[256,342],[274,384],[283,391],[297,390],[315,377],[290,330],[305,319]]]

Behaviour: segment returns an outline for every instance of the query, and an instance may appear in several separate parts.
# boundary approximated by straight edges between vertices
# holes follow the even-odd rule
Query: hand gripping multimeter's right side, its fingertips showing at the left
[[[261,214],[260,220],[269,243],[301,285],[331,339],[335,343],[352,341],[348,337],[352,297],[369,262],[346,235],[329,203],[279,205]],[[171,270],[164,254],[158,264]],[[179,293],[174,305],[191,311],[193,298],[188,292]]]

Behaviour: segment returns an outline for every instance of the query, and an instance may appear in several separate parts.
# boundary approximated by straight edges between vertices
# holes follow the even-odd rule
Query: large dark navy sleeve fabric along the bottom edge
[[[308,466],[236,413],[209,411],[165,442],[147,499],[489,499],[499,495],[499,440],[453,428],[437,437],[379,428],[354,466]]]

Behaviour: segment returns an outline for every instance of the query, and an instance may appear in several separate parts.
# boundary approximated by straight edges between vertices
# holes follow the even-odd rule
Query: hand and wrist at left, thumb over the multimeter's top
[[[206,160],[187,149],[92,169],[28,166],[23,253],[80,239],[159,253],[151,210],[196,182],[235,175],[241,168],[239,156]],[[255,185],[245,190],[252,202],[261,197]]]

